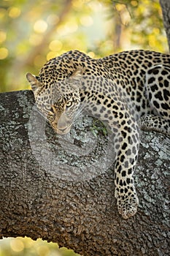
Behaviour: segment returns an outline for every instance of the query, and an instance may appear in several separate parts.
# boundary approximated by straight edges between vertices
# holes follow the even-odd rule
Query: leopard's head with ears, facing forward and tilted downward
[[[39,77],[26,75],[34,92],[36,107],[47,118],[55,132],[68,133],[79,113],[80,107],[80,70],[71,78],[54,83],[39,82]]]

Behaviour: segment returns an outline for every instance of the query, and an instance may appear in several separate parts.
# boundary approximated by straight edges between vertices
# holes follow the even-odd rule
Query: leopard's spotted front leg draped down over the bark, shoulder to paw
[[[96,95],[103,102],[98,100]],[[139,151],[139,126],[134,115],[134,106],[126,101],[126,94],[117,91],[107,97],[107,94],[89,96],[91,103],[86,110],[90,115],[101,119],[111,131],[115,146],[115,197],[117,208],[124,219],[136,214],[139,204],[134,187],[134,167]],[[120,97],[121,96],[121,97]],[[106,103],[107,102],[107,103]],[[101,104],[100,104],[101,103]],[[107,108],[105,107],[107,104]]]

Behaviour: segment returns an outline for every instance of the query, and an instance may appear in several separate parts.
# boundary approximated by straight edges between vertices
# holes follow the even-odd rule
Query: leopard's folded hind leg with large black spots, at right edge
[[[151,67],[145,86],[152,114],[142,116],[141,128],[170,136],[170,67]]]

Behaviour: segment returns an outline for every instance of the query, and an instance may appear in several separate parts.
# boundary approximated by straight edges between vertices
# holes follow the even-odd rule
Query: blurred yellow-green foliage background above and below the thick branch
[[[122,50],[169,52],[158,0],[1,0],[0,91],[30,89],[49,59],[68,50],[100,58]],[[31,238],[4,238],[0,256],[73,256]]]

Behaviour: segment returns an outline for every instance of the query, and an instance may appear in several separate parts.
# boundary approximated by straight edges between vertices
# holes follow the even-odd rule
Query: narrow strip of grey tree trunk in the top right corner
[[[170,1],[169,0],[160,0],[161,9],[163,13],[163,25],[166,30],[166,36],[169,43],[170,51]]]

